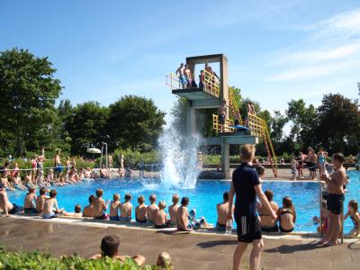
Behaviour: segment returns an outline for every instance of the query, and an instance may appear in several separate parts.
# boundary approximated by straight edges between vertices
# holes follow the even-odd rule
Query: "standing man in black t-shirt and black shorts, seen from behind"
[[[247,249],[247,244],[253,244],[253,250],[250,256],[250,269],[258,269],[260,264],[260,255],[264,247],[261,237],[260,220],[257,216],[257,197],[267,210],[276,219],[273,211],[267,201],[265,193],[261,189],[257,171],[252,167],[252,160],[255,157],[255,147],[244,145],[240,151],[241,165],[232,174],[232,183],[229,192],[229,212],[232,210],[234,195],[235,210],[234,218],[238,228],[238,247],[235,249],[233,258],[233,269],[238,270],[241,263],[241,257]],[[232,219],[231,214],[228,219]]]

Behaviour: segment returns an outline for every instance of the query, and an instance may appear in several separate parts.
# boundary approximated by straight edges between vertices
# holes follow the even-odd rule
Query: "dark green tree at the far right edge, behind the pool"
[[[341,94],[324,95],[318,108],[314,137],[331,152],[357,152],[360,144],[359,103]]]

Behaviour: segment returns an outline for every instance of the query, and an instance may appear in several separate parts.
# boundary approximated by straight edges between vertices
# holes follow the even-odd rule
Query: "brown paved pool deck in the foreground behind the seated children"
[[[48,252],[55,257],[78,254],[90,257],[99,252],[101,238],[121,238],[121,254],[141,254],[147,263],[168,252],[175,269],[231,269],[236,236],[179,233],[170,230],[134,229],[80,220],[40,220],[0,217],[0,245],[9,250]],[[263,269],[359,269],[360,240],[346,239],[337,247],[316,247],[317,238],[266,237],[261,259]],[[243,266],[248,269],[248,247]]]

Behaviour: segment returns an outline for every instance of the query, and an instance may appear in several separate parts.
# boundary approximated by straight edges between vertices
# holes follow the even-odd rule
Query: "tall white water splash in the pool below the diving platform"
[[[158,142],[163,160],[161,184],[166,187],[195,188],[201,171],[197,160],[201,137],[184,137],[171,127],[164,131]]]

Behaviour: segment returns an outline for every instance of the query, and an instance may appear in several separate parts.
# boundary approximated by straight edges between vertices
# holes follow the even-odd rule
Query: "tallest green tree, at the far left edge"
[[[14,138],[15,156],[23,155],[25,146],[34,145],[30,139],[51,130],[56,120],[61,86],[55,72],[48,58],[27,49],[0,52],[0,130]]]

